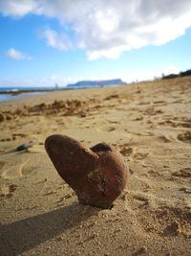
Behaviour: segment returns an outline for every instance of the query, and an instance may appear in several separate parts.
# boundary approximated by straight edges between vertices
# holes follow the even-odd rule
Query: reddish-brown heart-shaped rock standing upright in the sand
[[[129,181],[123,156],[108,144],[88,149],[73,138],[56,134],[46,139],[45,148],[82,204],[110,208]]]

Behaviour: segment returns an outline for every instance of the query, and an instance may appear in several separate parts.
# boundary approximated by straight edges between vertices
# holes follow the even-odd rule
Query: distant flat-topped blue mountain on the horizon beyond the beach
[[[77,81],[75,83],[68,84],[67,88],[89,88],[97,86],[109,86],[122,84],[123,81],[120,79],[116,80],[103,80],[103,81]]]

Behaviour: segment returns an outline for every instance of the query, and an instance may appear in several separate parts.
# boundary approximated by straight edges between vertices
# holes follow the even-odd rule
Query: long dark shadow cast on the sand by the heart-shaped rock
[[[100,210],[75,202],[22,221],[0,224],[0,255],[19,255],[73,228]]]

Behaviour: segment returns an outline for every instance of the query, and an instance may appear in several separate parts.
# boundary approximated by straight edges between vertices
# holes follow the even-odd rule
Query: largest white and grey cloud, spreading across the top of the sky
[[[89,59],[118,58],[124,51],[161,45],[191,27],[190,0],[1,0],[0,12],[56,18],[63,30],[73,31],[75,47],[84,49]],[[72,44],[53,30],[44,37],[59,50]]]

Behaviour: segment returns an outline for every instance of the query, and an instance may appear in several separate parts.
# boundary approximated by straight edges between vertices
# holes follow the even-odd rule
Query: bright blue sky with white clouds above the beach
[[[0,0],[0,86],[179,73],[190,17],[190,0]]]

